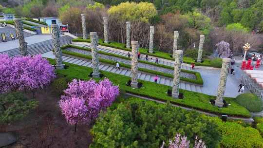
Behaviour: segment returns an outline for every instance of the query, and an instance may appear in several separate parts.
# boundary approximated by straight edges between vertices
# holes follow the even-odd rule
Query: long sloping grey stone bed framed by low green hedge
[[[66,50],[71,51],[71,52],[75,52],[75,53],[79,53],[79,54],[83,54],[83,55],[91,56],[91,52],[85,51],[85,50],[80,50],[80,49],[76,49],[76,48],[67,48]],[[121,62],[121,63],[127,64],[127,65],[131,65],[131,60],[127,60],[127,59],[123,59],[123,58],[119,58],[119,57],[114,57],[114,56],[103,55],[103,54],[98,54],[98,56],[100,58],[103,58],[103,59],[109,59],[109,60],[112,60],[115,62]],[[166,73],[166,74],[173,74],[173,70],[171,70],[171,69],[161,68],[161,67],[153,66],[150,64],[145,64],[145,63],[139,62],[138,67],[157,71],[157,72],[162,72],[162,73]],[[189,73],[184,73],[184,72],[181,72],[180,76],[190,78],[190,79],[196,79],[194,74],[189,74]]]

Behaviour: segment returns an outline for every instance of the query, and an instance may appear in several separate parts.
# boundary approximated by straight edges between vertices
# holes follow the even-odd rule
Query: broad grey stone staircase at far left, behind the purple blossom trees
[[[69,37],[69,36],[62,36],[59,39],[60,39],[60,46],[63,46],[63,45],[70,44],[71,40],[73,38]],[[52,51],[52,49],[53,49],[53,41],[52,41],[52,39],[45,40],[45,41],[42,41],[42,42],[38,42],[38,43],[35,43],[35,44],[31,44],[31,45],[28,45],[28,47],[27,47],[28,55],[44,54],[44,53],[47,53],[49,51]],[[11,50],[8,50],[8,51],[4,51],[2,53],[7,53],[8,56],[20,55],[19,48],[15,48],[15,49],[11,49]]]

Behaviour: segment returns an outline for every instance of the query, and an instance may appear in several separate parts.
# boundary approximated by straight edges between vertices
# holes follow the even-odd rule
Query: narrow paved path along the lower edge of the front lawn
[[[126,94],[127,94],[127,95],[130,95],[130,96],[138,97],[138,98],[141,98],[141,99],[144,99],[144,100],[150,100],[150,101],[154,101],[154,102],[166,104],[166,102],[159,101],[159,100],[154,100],[154,99],[151,99],[151,98],[148,98],[148,97],[144,97],[144,96],[140,96],[140,95],[136,95],[136,94],[132,94],[132,93],[128,93],[128,92],[126,92]],[[203,114],[206,114],[206,115],[209,115],[209,116],[221,117],[220,115],[217,115],[217,114],[214,114],[214,113],[210,113],[210,112],[200,111],[200,110],[196,110],[196,109],[192,109],[192,108],[187,108],[187,107],[182,107],[182,106],[174,105],[174,104],[171,104],[171,105],[174,106],[174,107],[178,107],[178,108],[181,108],[181,109],[188,110],[188,111],[197,111],[197,112],[199,112],[199,113],[203,113]],[[250,118],[243,118],[243,117],[228,116],[228,118],[229,118],[229,119],[234,119],[234,120],[243,120],[244,122],[247,122],[247,123],[252,123],[252,122],[254,122],[254,120],[253,120],[252,117],[250,117]]]

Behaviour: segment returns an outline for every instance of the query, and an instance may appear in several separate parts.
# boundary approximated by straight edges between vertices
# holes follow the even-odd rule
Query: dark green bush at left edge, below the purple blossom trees
[[[37,106],[37,101],[27,100],[25,95],[20,92],[0,94],[0,123],[19,120]]]

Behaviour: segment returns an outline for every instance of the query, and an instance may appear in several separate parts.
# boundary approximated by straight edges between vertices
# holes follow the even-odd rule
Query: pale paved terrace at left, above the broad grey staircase
[[[46,41],[52,39],[51,35],[34,35],[30,37],[25,37],[27,45],[35,44],[38,42]],[[11,49],[19,48],[19,40],[10,40],[7,42],[0,42],[0,53],[8,51]]]

